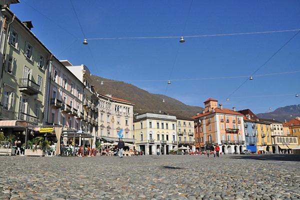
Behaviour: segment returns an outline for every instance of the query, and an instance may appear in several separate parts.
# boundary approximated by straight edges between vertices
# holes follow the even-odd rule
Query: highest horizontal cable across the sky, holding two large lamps
[[[200,35],[186,35],[184,37],[211,37],[211,36],[230,36],[230,35],[246,35],[246,34],[266,34],[276,32],[292,32],[299,31],[297,29],[286,29],[286,30],[270,30],[260,32],[239,32],[239,33],[220,33],[220,34],[200,34]],[[87,38],[88,40],[105,40],[105,39],[165,39],[165,38],[179,38],[180,36],[141,36],[141,37],[99,37],[99,38]]]

